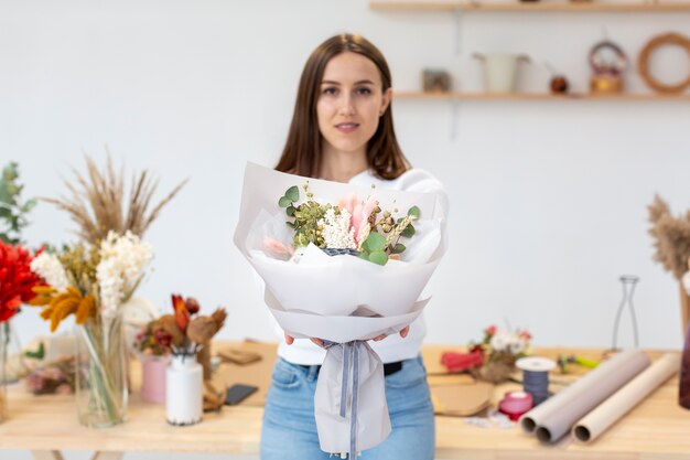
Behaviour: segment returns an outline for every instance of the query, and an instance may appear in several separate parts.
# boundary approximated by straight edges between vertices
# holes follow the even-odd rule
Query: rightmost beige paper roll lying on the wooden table
[[[578,421],[574,428],[575,438],[582,442],[596,439],[659,385],[673,376],[679,367],[678,354],[668,353],[658,359],[650,367]]]

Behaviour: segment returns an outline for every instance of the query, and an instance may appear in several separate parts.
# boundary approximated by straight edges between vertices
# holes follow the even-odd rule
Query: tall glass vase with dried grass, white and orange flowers
[[[32,269],[45,285],[34,288],[32,304],[43,307],[41,317],[50,320],[52,331],[69,315],[82,325],[76,364],[79,420],[103,427],[126,417],[123,311],[153,257],[152,246],[141,238],[183,184],[149,212],[157,183],[144,171],[134,176],[126,207],[125,181],[110,159],[105,170],[88,157],[86,161],[88,175],[75,172],[77,185],[66,182],[71,199],[43,199],[69,213],[83,239],[33,260]]]

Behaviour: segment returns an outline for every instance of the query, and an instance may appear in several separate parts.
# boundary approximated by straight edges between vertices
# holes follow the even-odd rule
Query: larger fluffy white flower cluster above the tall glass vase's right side
[[[139,285],[147,264],[153,257],[153,248],[129,231],[122,236],[111,231],[100,243],[99,254],[96,278],[101,312],[115,314]]]

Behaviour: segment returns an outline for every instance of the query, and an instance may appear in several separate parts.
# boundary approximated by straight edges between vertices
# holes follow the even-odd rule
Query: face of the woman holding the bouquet
[[[321,81],[316,115],[324,151],[366,153],[379,117],[390,101],[381,76],[367,57],[345,52],[326,64]]]

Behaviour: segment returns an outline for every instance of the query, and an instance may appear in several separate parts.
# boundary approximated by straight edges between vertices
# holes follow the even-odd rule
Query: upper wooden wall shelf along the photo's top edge
[[[592,12],[651,12],[651,11],[690,11],[690,2],[669,3],[614,3],[614,2],[406,2],[406,1],[370,1],[371,10],[381,11],[592,11]]]

